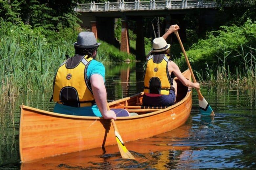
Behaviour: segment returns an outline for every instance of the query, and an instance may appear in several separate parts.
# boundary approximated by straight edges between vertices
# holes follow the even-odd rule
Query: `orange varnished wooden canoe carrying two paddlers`
[[[188,70],[183,75],[191,79]],[[116,125],[123,142],[164,133],[186,122],[192,108],[192,92],[177,78],[175,81],[178,85],[176,104],[167,108],[141,108],[143,92],[109,102],[110,108],[125,108],[139,114],[117,118]],[[58,114],[25,105],[20,109],[21,162],[116,144],[110,120]]]

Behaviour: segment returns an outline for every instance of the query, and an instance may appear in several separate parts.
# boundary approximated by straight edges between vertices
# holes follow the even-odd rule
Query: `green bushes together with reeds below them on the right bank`
[[[202,82],[212,85],[251,86],[255,79],[256,22],[221,26],[187,51],[190,63]]]

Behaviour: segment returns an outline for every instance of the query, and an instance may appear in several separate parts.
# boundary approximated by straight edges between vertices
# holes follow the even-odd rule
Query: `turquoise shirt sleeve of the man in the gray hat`
[[[89,64],[86,75],[88,76],[88,79],[90,79],[91,75],[93,74],[101,75],[105,82],[105,67],[102,63],[96,61],[95,59],[93,59]]]

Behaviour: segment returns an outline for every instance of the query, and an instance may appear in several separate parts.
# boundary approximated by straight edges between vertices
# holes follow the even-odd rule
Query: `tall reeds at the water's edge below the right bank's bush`
[[[211,85],[224,87],[252,88],[256,85],[255,69],[256,69],[256,49],[252,47],[244,48],[241,45],[241,52],[237,52],[234,56],[229,56],[232,51],[226,51],[220,48],[216,56],[218,64],[208,66],[206,64],[205,75],[206,80]],[[236,66],[227,65],[227,59],[236,59],[240,61]],[[235,70],[232,74],[230,69]],[[201,76],[201,74],[198,75]]]

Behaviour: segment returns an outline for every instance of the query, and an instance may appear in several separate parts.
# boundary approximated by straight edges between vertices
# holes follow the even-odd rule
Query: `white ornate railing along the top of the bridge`
[[[135,11],[135,10],[164,10],[164,9],[189,9],[189,8],[215,8],[218,7],[214,0],[150,0],[125,2],[105,2],[90,4],[77,4],[76,12],[104,12],[104,11]]]

